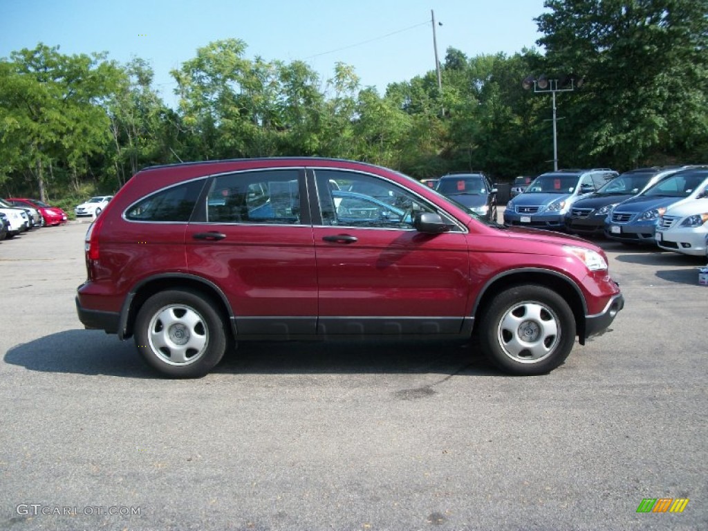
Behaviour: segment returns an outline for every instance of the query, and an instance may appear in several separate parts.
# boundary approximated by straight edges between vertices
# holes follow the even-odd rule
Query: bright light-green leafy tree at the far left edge
[[[105,54],[62,55],[40,43],[0,61],[0,171],[28,172],[47,199],[47,176],[63,169],[76,187],[108,139],[102,106],[115,64]]]

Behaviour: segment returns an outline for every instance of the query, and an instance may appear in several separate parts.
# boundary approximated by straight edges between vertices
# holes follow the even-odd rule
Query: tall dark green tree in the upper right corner
[[[567,118],[578,159],[617,167],[705,145],[706,0],[547,0],[546,67],[586,77]],[[587,160],[587,159],[586,159]]]

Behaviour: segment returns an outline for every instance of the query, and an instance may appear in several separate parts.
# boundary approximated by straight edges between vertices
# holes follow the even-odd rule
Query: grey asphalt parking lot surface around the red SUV
[[[76,318],[87,227],[0,242],[0,529],[708,529],[705,260],[598,239],[626,306],[549,375],[266,343],[172,381]]]

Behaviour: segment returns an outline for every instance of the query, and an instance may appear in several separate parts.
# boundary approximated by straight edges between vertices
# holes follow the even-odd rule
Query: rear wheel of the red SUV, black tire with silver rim
[[[156,293],[135,319],[137,350],[162,375],[207,375],[227,347],[227,326],[216,307],[209,297],[190,290]]]

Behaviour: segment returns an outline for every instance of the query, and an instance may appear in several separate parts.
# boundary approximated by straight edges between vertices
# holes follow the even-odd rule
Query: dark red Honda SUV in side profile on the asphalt
[[[76,308],[170,377],[236,341],[479,338],[537,375],[624,299],[599,247],[486,224],[395,171],[333,159],[144,169],[86,234]]]

